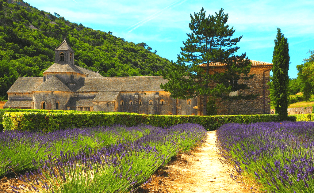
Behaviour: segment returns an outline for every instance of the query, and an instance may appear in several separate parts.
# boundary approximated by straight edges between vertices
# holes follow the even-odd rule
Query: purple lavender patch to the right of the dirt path
[[[244,175],[267,192],[314,192],[314,123],[226,124],[217,146],[234,179]]]

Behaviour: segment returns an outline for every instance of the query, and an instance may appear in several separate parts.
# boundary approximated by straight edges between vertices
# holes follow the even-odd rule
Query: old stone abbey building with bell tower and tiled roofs
[[[269,71],[271,63],[252,61],[246,93],[254,100],[218,101],[219,115],[270,114]],[[240,80],[239,80],[240,81]],[[160,88],[162,76],[102,77],[74,65],[74,51],[64,40],[55,49],[55,63],[43,77],[19,77],[8,90],[3,108],[133,112],[155,115],[202,115],[201,100],[173,99]]]

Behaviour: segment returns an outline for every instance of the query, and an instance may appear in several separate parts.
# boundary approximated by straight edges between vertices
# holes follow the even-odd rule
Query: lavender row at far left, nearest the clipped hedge
[[[59,130],[50,133],[34,131],[3,131],[0,133],[0,176],[36,169],[39,160],[62,152],[85,152],[101,148],[117,140],[132,141],[149,132],[142,126],[97,126],[84,129]]]

